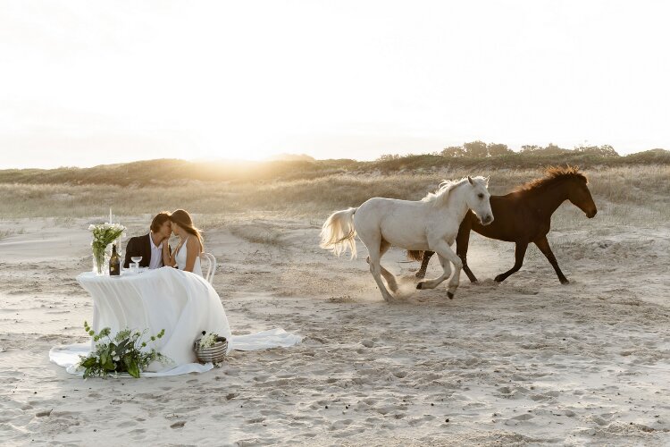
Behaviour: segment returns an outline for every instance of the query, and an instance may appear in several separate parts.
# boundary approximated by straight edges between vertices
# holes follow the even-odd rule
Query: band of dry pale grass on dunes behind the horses
[[[670,166],[634,165],[584,170],[600,218],[639,224],[670,216]],[[276,181],[191,181],[169,186],[110,186],[0,183],[0,218],[155,214],[184,208],[197,215],[252,213],[320,220],[331,211],[356,207],[371,197],[416,200],[442,179],[467,174],[490,176],[492,194],[504,194],[542,174],[539,169],[442,169],[431,173],[333,173],[318,178]],[[576,208],[575,208],[576,210]],[[577,210],[578,211],[578,210]],[[570,212],[567,212],[569,215]],[[268,240],[276,240],[268,235]]]

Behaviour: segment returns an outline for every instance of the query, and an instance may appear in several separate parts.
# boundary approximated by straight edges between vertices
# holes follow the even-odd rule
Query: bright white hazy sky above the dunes
[[[664,1],[0,3],[0,169],[670,149]]]

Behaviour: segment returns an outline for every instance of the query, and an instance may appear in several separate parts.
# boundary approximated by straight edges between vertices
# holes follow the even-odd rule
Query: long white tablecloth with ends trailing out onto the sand
[[[288,347],[302,340],[299,335],[274,329],[262,333],[231,336],[228,318],[214,288],[201,276],[172,267],[150,270],[142,274],[96,276],[80,274],[77,281],[93,299],[91,328],[97,332],[105,327],[113,334],[126,329],[147,330],[146,339],[165,330],[156,340],[155,349],[169,358],[167,363],[154,362],[144,376],[177,375],[204,372],[212,364],[196,363],[193,342],[206,331],[218,333],[229,340],[230,350],[259,350]],[[80,355],[87,355],[93,341],[55,347],[49,358],[80,374],[76,364]]]

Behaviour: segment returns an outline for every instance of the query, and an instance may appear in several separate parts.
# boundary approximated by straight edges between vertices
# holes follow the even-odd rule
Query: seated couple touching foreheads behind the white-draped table
[[[174,251],[169,243],[172,234],[180,238]],[[142,257],[140,267],[171,266],[202,276],[200,254],[203,251],[202,234],[188,212],[183,209],[172,213],[163,211],[151,221],[148,234],[128,240],[123,267],[130,267],[131,257]]]

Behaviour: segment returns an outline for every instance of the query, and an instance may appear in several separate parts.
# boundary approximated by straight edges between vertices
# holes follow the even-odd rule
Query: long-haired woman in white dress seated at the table
[[[165,266],[177,266],[180,270],[203,275],[200,267],[200,254],[203,249],[203,237],[200,231],[193,226],[191,216],[183,209],[178,209],[170,215],[172,232],[180,238],[180,243],[172,254],[167,245],[167,239],[163,240],[163,264]]]

